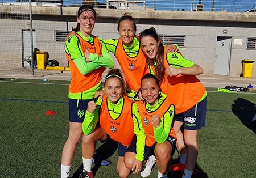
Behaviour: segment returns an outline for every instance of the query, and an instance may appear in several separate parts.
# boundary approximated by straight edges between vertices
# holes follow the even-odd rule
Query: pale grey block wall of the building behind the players
[[[0,13],[15,14],[20,12],[20,8],[1,6]],[[203,67],[203,75],[214,75],[218,36],[232,37],[229,76],[240,76],[242,59],[256,60],[256,50],[246,50],[247,37],[256,37],[256,13],[96,10],[100,18],[97,20],[93,33],[102,37],[102,39],[118,37],[118,18],[125,12],[130,12],[137,20],[137,34],[143,29],[154,26],[161,35],[185,35],[185,48],[180,50],[186,58]],[[50,58],[57,59],[60,65],[63,66],[67,65],[64,43],[54,42],[54,30],[71,30],[72,27],[76,27],[76,11],[77,7],[63,7],[61,9],[56,7],[33,7],[32,9],[32,24],[36,31],[36,48],[47,51]],[[0,22],[5,23],[6,28],[10,28],[16,33],[15,38],[18,43],[14,44],[15,51],[11,59],[17,56],[20,57],[20,29],[29,29],[29,27],[27,24],[15,22],[16,29],[14,30],[14,21],[0,19]],[[227,34],[223,34],[224,29],[228,31]],[[1,34],[0,37],[6,38],[6,35]],[[241,39],[242,44],[235,45],[234,39]],[[2,53],[0,54],[0,60],[6,57]],[[256,77],[256,63],[253,65],[252,77]]]

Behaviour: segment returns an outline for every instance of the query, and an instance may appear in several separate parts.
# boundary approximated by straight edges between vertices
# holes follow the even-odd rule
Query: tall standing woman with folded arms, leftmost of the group
[[[71,67],[69,85],[69,135],[61,157],[61,178],[69,177],[77,143],[82,136],[82,122],[88,102],[102,89],[101,77],[114,61],[105,44],[92,35],[97,13],[92,6],[82,5],[77,11],[76,34],[65,41],[65,53]],[[83,145],[82,145],[83,147]],[[86,160],[83,159],[83,163]],[[92,160],[89,160],[92,163]]]

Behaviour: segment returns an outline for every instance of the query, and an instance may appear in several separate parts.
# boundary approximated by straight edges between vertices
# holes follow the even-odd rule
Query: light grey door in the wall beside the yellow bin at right
[[[217,37],[214,74],[229,75],[232,37]]]

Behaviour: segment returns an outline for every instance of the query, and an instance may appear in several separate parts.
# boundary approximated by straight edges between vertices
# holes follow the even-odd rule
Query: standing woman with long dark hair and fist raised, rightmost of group
[[[165,53],[165,47],[154,30],[146,29],[139,37],[150,71],[158,77],[163,92],[176,109],[174,130],[181,163],[172,166],[172,171],[184,171],[183,178],[191,177],[198,155],[197,133],[205,126],[207,109],[207,92],[195,76],[202,74],[203,69],[179,52]],[[180,130],[183,124],[184,136]]]

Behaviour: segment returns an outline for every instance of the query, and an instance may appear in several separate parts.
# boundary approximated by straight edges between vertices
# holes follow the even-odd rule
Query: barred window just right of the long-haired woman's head
[[[185,35],[159,35],[164,45],[177,44],[185,48]]]

